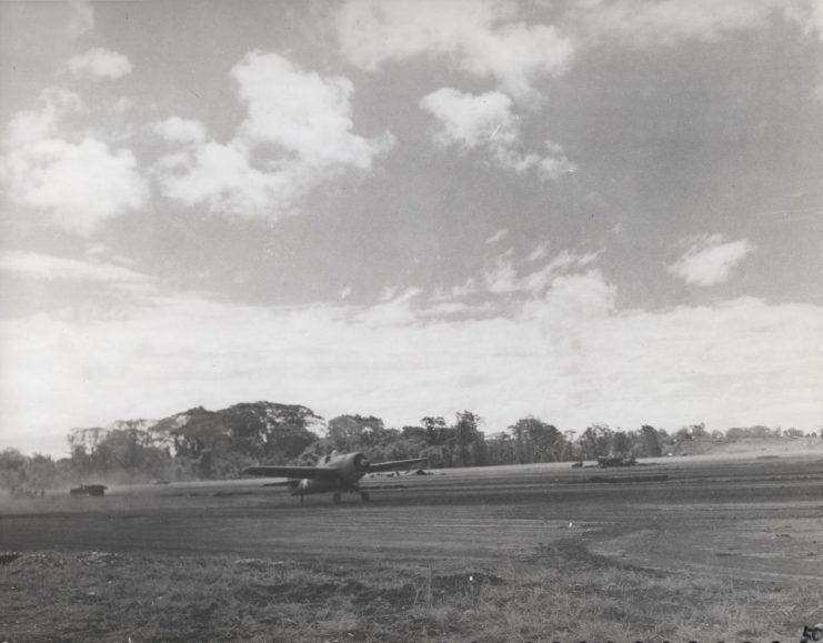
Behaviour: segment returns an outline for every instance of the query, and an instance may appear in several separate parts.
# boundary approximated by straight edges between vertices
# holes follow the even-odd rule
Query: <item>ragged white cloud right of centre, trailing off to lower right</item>
[[[479,151],[495,167],[518,174],[534,172],[541,180],[573,172],[574,163],[556,143],[544,141],[542,154],[523,149],[512,104],[512,99],[499,91],[471,94],[451,88],[439,89],[420,101],[420,107],[438,119],[434,143],[440,148]]]

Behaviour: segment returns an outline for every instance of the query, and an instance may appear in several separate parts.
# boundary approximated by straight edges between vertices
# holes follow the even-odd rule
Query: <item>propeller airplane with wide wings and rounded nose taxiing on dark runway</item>
[[[394,460],[391,462],[379,462],[372,464],[362,453],[338,453],[323,458],[318,466],[281,466],[278,464],[262,464],[249,466],[241,473],[244,475],[259,475],[265,478],[288,478],[281,484],[291,489],[292,495],[303,496],[313,493],[334,492],[334,504],[340,504],[342,492],[360,493],[363,502],[369,501],[369,492],[360,489],[360,479],[367,473],[380,471],[408,470],[416,464],[428,463],[428,458],[415,458],[413,460]]]

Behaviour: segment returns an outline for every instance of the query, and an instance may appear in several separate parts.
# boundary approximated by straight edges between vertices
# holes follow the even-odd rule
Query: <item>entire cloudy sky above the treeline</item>
[[[0,449],[815,430],[823,0],[2,2],[0,292]]]

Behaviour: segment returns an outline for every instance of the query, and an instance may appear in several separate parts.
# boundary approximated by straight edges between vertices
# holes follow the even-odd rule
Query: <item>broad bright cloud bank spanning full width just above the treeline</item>
[[[0,320],[0,440],[49,435],[56,449],[72,425],[257,399],[390,425],[471,409],[489,431],[528,413],[563,429],[819,422],[823,308],[736,299],[618,312],[615,298],[589,270],[485,319],[438,318],[443,303],[429,310],[409,290],[365,309],[178,295],[106,319]]]

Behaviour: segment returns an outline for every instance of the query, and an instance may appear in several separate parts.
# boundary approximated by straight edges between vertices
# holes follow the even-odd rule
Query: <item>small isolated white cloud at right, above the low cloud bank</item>
[[[694,243],[678,259],[669,271],[696,285],[715,285],[729,279],[755,245],[745,239],[724,243],[723,237],[713,234]]]

